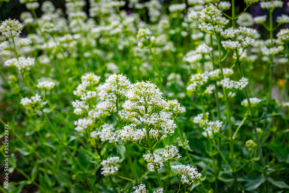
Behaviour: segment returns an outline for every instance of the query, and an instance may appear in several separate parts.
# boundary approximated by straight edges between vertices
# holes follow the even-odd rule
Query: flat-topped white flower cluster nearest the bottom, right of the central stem
[[[181,183],[184,185],[191,185],[196,179],[202,176],[202,174],[197,171],[197,167],[193,168],[182,164],[172,166],[172,171],[177,177],[181,177]]]

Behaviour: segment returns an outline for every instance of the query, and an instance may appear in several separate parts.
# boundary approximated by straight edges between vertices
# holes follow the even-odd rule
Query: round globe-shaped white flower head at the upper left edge
[[[7,38],[14,38],[20,35],[23,25],[16,19],[6,19],[2,21],[0,32]]]

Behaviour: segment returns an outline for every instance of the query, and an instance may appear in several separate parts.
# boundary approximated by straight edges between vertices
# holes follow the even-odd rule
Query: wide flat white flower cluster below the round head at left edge
[[[6,60],[4,62],[5,66],[8,67],[16,67],[18,70],[25,70],[29,67],[32,67],[35,64],[35,59],[30,58],[29,56],[25,58],[24,56],[21,56],[18,58],[11,58],[9,60]]]

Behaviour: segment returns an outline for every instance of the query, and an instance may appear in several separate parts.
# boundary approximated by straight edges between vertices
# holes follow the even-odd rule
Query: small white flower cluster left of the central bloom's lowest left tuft
[[[116,143],[120,139],[120,131],[114,131],[114,126],[112,124],[103,124],[102,129],[97,131],[92,131],[90,137],[93,139],[100,139],[101,142],[108,141],[109,143]]]

